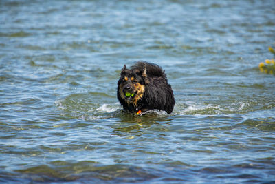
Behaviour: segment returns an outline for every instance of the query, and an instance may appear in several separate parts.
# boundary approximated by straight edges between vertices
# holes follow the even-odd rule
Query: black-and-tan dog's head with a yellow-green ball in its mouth
[[[127,69],[126,65],[121,70],[120,79],[118,80],[118,95],[126,103],[137,104],[142,99],[145,91],[145,85],[148,81],[146,68]]]

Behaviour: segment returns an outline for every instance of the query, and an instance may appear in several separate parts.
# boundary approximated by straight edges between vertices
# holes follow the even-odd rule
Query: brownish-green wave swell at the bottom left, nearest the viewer
[[[135,165],[111,164],[102,165],[96,161],[52,161],[47,164],[34,165],[15,170],[14,178],[7,173],[7,181],[35,182],[74,182],[89,181],[87,183],[135,183],[157,178],[152,171]],[[156,172],[156,171],[153,171]],[[23,175],[23,176],[22,176]],[[23,182],[24,183],[24,182]],[[84,182],[85,183],[85,182]]]

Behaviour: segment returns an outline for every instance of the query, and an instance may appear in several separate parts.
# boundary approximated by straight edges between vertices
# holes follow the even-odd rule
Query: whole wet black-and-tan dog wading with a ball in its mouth
[[[124,110],[137,114],[147,110],[165,110],[171,114],[175,105],[164,70],[145,61],[137,61],[130,69],[124,65],[117,95]]]

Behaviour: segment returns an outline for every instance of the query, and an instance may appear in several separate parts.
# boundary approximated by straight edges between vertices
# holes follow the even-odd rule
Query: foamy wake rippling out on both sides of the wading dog
[[[115,117],[122,115],[120,103],[106,103],[106,100],[94,103],[94,98],[106,99],[109,97],[104,93],[70,94],[64,99],[57,99],[54,103],[61,114],[71,117],[93,116],[93,119],[100,119],[102,116]],[[104,98],[103,98],[104,97]],[[103,102],[100,104],[100,102]],[[272,110],[275,108],[274,101],[217,101],[215,103],[201,103],[197,101],[179,101],[175,104],[172,115],[215,115],[215,114],[249,114],[262,110]],[[164,111],[151,110],[144,114],[167,115]],[[134,114],[135,115],[135,114]],[[82,118],[80,118],[82,119]]]

